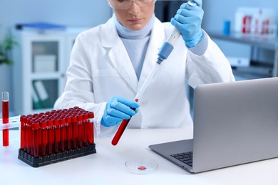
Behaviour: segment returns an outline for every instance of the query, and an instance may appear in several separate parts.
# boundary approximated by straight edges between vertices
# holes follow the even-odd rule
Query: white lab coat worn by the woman
[[[170,23],[161,23],[155,18],[139,81],[113,18],[79,34],[71,53],[66,88],[56,108],[79,106],[93,111],[96,136],[112,137],[119,124],[115,127],[101,125],[106,102],[113,96],[134,99],[155,65],[159,48],[172,31]],[[145,129],[192,125],[185,94],[187,82],[195,88],[203,83],[235,80],[227,59],[207,38],[205,54],[197,56],[188,51],[180,37],[145,90],[139,111],[128,127]]]

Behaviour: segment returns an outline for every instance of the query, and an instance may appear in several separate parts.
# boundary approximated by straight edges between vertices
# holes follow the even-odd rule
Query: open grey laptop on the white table
[[[192,173],[278,157],[278,78],[197,86],[193,135],[149,147]]]

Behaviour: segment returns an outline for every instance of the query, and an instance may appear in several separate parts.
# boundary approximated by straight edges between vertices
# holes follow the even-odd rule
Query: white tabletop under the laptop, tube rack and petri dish
[[[0,184],[278,184],[278,158],[190,174],[148,148],[189,138],[192,129],[127,129],[117,146],[95,139],[96,154],[33,168],[17,159],[19,131],[13,130],[10,146],[0,146]],[[131,174],[125,162],[138,157],[155,160],[158,169]]]

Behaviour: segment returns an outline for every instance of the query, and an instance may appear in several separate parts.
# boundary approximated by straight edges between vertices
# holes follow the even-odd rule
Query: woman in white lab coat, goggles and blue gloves
[[[155,0],[109,0],[113,17],[76,38],[66,88],[54,108],[93,111],[97,137],[112,137],[130,116],[129,128],[192,125],[187,83],[195,88],[235,80],[227,58],[201,29],[202,0],[193,2],[197,6],[182,4],[171,23],[161,23]],[[181,37],[138,104],[134,97],[174,26]]]

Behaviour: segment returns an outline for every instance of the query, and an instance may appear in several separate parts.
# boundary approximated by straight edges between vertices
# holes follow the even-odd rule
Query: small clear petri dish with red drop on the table
[[[151,174],[158,169],[158,163],[150,159],[130,159],[125,167],[133,174]]]

